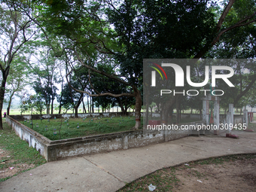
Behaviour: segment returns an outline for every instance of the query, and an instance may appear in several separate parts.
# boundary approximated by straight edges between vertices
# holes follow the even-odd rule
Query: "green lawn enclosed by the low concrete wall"
[[[50,140],[58,140],[131,130],[135,125],[135,117],[87,117],[69,120],[50,119],[49,121],[44,119],[32,120],[32,122],[26,120],[20,123],[24,123]]]

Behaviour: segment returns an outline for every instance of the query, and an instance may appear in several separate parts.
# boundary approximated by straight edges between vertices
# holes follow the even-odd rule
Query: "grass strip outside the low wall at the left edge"
[[[44,157],[35,148],[29,148],[7,123],[3,122],[3,126],[4,130],[0,130],[0,181],[46,163]]]

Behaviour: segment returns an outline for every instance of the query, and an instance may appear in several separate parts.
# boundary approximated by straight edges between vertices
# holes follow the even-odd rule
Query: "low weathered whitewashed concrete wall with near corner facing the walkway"
[[[8,115],[6,116],[6,122],[12,127],[17,136],[20,136],[21,139],[29,143],[29,146],[39,151],[47,161],[81,154],[95,154],[127,148],[137,148],[160,142],[169,142],[191,134],[190,130],[151,130],[147,133],[143,133],[143,130],[131,130],[98,136],[85,136],[51,141]],[[195,123],[202,122],[186,124]]]

